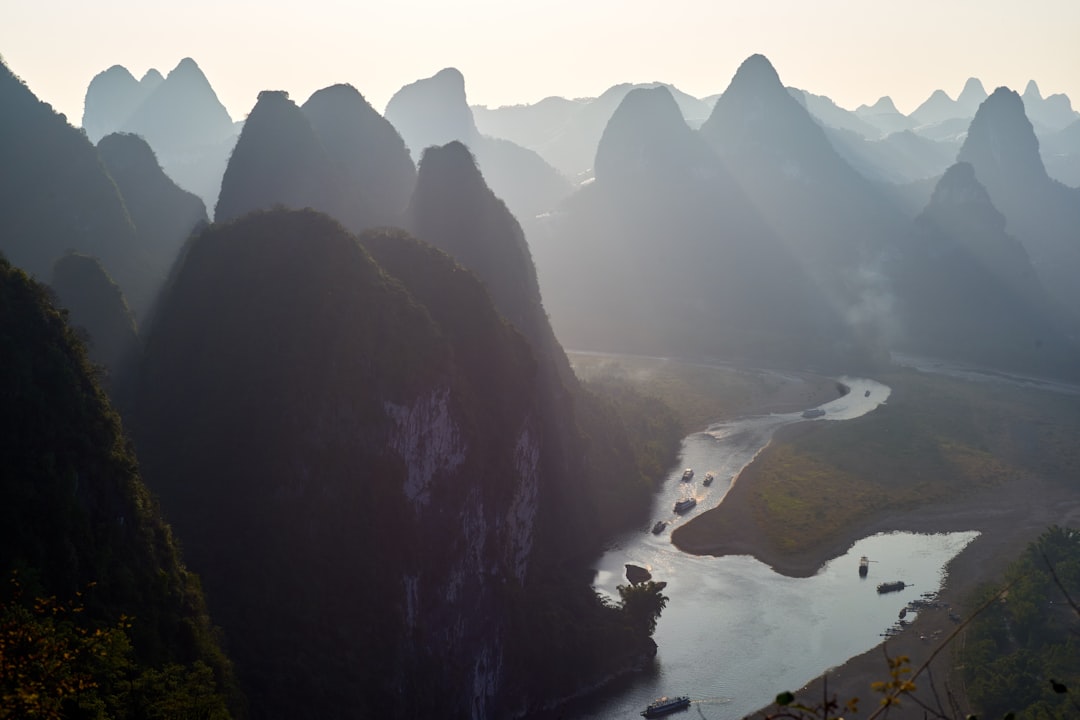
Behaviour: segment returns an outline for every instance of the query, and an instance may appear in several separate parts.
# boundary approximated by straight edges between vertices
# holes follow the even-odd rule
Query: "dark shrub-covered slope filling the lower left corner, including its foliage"
[[[117,699],[133,683],[151,705],[190,694],[213,717],[226,705],[238,711],[199,580],[180,561],[82,344],[49,290],[2,258],[0,348],[0,573],[17,572],[17,584],[0,588],[2,692],[33,702],[8,668],[50,663],[56,673],[42,688],[58,692],[66,717],[77,705],[85,717],[133,717],[121,709],[134,706]],[[87,683],[94,694],[76,692]]]

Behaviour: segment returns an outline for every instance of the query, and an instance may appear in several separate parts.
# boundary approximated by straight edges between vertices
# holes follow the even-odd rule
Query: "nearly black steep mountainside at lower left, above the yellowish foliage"
[[[240,717],[199,580],[180,560],[81,343],[44,286],[2,257],[0,347],[0,574],[8,582],[17,571],[29,598],[64,601],[81,593],[85,627],[133,619],[123,673],[79,699],[91,691],[110,699],[131,693],[131,678],[151,667],[183,682],[201,662],[212,669],[201,691],[231,701]],[[51,652],[45,642],[40,649]],[[70,669],[67,661],[55,671]],[[167,664],[183,667],[166,671]],[[140,692],[147,707],[161,689]],[[204,709],[212,705],[203,699]]]

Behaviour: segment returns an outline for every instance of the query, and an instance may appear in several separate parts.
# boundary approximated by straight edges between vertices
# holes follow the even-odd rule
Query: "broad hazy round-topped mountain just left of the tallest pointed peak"
[[[572,347],[794,363],[842,332],[665,87],[624,97],[596,181],[546,233],[534,250],[545,304]]]

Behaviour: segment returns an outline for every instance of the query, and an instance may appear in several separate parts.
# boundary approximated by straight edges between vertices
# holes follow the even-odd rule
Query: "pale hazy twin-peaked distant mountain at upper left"
[[[114,66],[86,89],[83,127],[95,142],[109,133],[134,133],[153,148],[165,173],[214,207],[238,130],[202,70],[186,57],[162,78],[150,70],[131,83]]]

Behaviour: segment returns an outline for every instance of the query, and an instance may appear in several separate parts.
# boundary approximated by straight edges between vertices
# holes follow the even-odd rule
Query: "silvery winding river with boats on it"
[[[873,380],[841,381],[851,392],[821,405],[825,415],[820,420],[858,418],[890,393]],[[796,690],[878,644],[901,608],[941,588],[943,568],[976,533],[864,538],[806,579],[777,574],[747,556],[687,555],[671,543],[674,527],[723,501],[733,478],[779,427],[805,421],[799,412],[752,417],[684,439],[679,466],[653,504],[652,520],[666,521],[666,529],[653,535],[642,528],[620,538],[596,568],[597,590],[616,599],[617,586],[626,582],[627,562],[667,583],[670,600],[653,636],[656,662],[652,669],[566,708],[566,717],[637,718],[660,695],[689,695],[692,717],[742,718],[771,703],[778,692]],[[680,481],[684,466],[694,470],[690,483]],[[706,472],[716,476],[710,487],[702,485]],[[675,501],[690,495],[697,506],[676,515]],[[863,555],[873,559],[865,579],[858,572]],[[876,585],[891,580],[909,586],[878,595]]]

